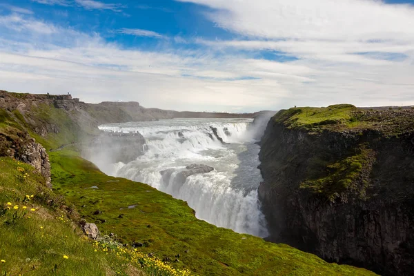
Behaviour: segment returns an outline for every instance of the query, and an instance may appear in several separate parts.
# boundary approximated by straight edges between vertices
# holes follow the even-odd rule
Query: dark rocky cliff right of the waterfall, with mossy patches
[[[412,275],[414,112],[352,111],[308,125],[300,122],[313,112],[300,112],[279,112],[262,138],[269,239],[382,275]]]

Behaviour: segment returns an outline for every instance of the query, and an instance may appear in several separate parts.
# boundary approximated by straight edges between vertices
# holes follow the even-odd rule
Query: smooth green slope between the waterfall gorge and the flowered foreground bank
[[[103,233],[115,233],[119,242],[144,244],[144,253],[171,261],[179,254],[179,262],[172,263],[176,268],[199,275],[373,275],[208,224],[196,219],[184,201],[146,184],[108,177],[76,152],[52,152],[50,160],[55,190],[81,217],[97,222]],[[131,205],[135,208],[128,209]],[[96,210],[101,213],[93,215]]]

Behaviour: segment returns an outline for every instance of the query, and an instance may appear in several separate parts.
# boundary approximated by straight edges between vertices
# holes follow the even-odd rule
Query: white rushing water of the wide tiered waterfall
[[[140,181],[188,202],[196,216],[238,233],[266,237],[266,222],[257,199],[262,176],[259,146],[251,119],[170,119],[99,126],[112,132],[139,132],[144,155],[119,162],[109,175]],[[222,144],[211,127],[226,143]],[[130,150],[134,150],[131,148]],[[179,172],[191,164],[214,170],[183,179]],[[110,171],[108,171],[110,170]]]

